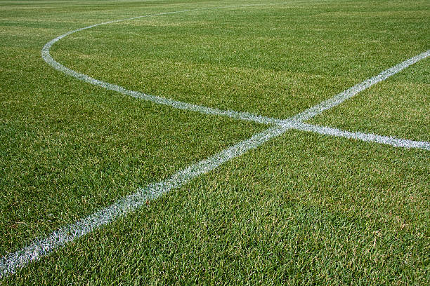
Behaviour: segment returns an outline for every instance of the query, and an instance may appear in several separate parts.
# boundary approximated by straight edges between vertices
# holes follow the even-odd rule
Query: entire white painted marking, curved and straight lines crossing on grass
[[[233,8],[233,6],[228,6],[228,8]],[[215,9],[215,8],[211,8],[211,9]],[[208,10],[208,9],[201,9],[201,10]],[[155,15],[167,15],[172,13],[181,13],[181,12],[188,12],[188,11],[197,11],[197,9],[176,11],[176,12],[169,12],[169,13],[159,13],[154,15],[145,15],[145,16],[139,16],[135,18],[129,18],[126,20],[133,20],[133,19],[155,16]],[[110,22],[104,22],[98,25],[91,25],[89,27],[77,29],[72,32],[68,32],[61,36],[58,36],[56,39],[53,39],[52,41],[46,43],[46,45],[41,51],[42,57],[48,64],[51,64],[52,67],[54,67],[55,69],[58,69],[59,71],[63,71],[65,74],[69,74],[70,76],[74,76],[75,78],[81,81],[85,81],[87,83],[91,83],[96,86],[101,86],[109,90],[115,90],[124,95],[130,95],[133,97],[141,98],[143,100],[149,100],[158,104],[169,105],[177,109],[197,111],[202,114],[229,116],[232,118],[238,118],[238,119],[247,120],[247,121],[271,124],[273,126],[271,128],[264,130],[263,132],[259,132],[258,134],[252,136],[249,139],[239,142],[233,145],[232,147],[229,147],[228,149],[225,149],[215,154],[214,156],[211,156],[203,161],[200,161],[199,163],[195,163],[194,165],[190,165],[190,167],[188,168],[185,168],[183,170],[176,172],[174,175],[169,177],[169,179],[166,179],[162,182],[150,184],[144,188],[138,189],[136,193],[133,193],[129,196],[126,196],[124,198],[117,200],[117,202],[114,203],[113,205],[110,205],[109,207],[105,207],[102,210],[99,210],[98,212],[95,212],[89,215],[88,217],[80,219],[74,224],[70,224],[61,229],[53,231],[53,233],[51,233],[50,236],[44,239],[34,240],[33,243],[31,243],[27,247],[22,248],[21,250],[18,250],[17,252],[13,252],[11,254],[6,255],[0,260],[0,278],[4,278],[10,273],[15,273],[15,271],[18,268],[22,268],[32,261],[37,261],[41,259],[41,257],[53,252],[53,250],[56,250],[58,247],[62,247],[63,245],[65,245],[66,243],[69,243],[72,240],[85,236],[91,231],[99,229],[101,226],[104,226],[106,224],[109,224],[110,222],[115,221],[115,219],[117,219],[120,216],[134,212],[139,207],[141,207],[146,202],[146,200],[154,200],[156,198],[159,198],[159,196],[162,196],[164,193],[171,191],[171,189],[176,189],[182,186],[183,184],[190,182],[191,179],[194,179],[195,177],[198,177],[204,173],[214,170],[215,168],[218,168],[221,164],[226,163],[227,161],[230,161],[232,158],[245,154],[250,149],[255,149],[256,147],[259,147],[264,142],[267,142],[269,139],[282,135],[289,129],[318,132],[324,135],[335,135],[335,136],[346,137],[346,138],[361,139],[363,141],[390,144],[395,147],[421,148],[426,150],[430,149],[429,142],[415,142],[415,141],[406,140],[406,139],[396,139],[392,137],[371,135],[371,134],[365,134],[360,132],[348,132],[348,131],[338,130],[336,128],[311,125],[311,124],[302,122],[312,118],[317,114],[322,113],[327,109],[330,109],[334,106],[341,104],[341,102],[348,100],[349,98],[353,97],[357,93],[360,93],[360,91],[363,91],[366,88],[369,88],[370,86],[380,81],[384,81],[385,79],[388,79],[389,76],[392,76],[393,74],[398,73],[402,69],[405,69],[405,67],[409,67],[411,64],[414,64],[415,62],[418,62],[419,60],[422,60],[425,57],[428,57],[430,52],[429,50],[427,50],[426,52],[420,55],[412,57],[409,60],[406,60],[405,62],[397,64],[395,67],[386,69],[386,71],[382,71],[382,73],[379,74],[378,76],[374,76],[371,79],[367,79],[366,81],[363,81],[362,83],[359,83],[358,85],[353,86],[352,88],[349,88],[348,90],[345,90],[342,93],[339,93],[338,95],[332,97],[330,100],[321,102],[320,104],[315,105],[315,107],[306,109],[306,111],[303,111],[300,114],[292,116],[291,118],[280,120],[277,118],[268,118],[265,116],[258,116],[258,115],[249,114],[246,112],[225,111],[221,109],[214,109],[211,107],[203,107],[200,105],[188,104],[186,102],[168,100],[168,99],[164,99],[163,97],[146,95],[145,93],[138,93],[133,90],[127,90],[126,88],[122,88],[121,86],[113,85],[111,83],[105,83],[104,81],[98,81],[97,79],[93,79],[90,76],[86,76],[85,74],[81,74],[77,71],[73,71],[72,69],[69,69],[63,66],[63,64],[60,64],[55,60],[53,60],[53,58],[49,54],[49,49],[51,48],[53,43],[56,43],[56,41],[63,39],[67,35],[70,35],[74,32],[82,31],[84,29],[89,29],[91,27],[105,25],[113,22],[122,22],[122,21],[125,21],[125,20],[115,20]]]

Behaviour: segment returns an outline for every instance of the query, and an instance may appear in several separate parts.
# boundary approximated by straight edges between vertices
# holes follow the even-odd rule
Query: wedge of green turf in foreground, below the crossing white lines
[[[422,285],[423,159],[422,151],[289,132],[13,279]]]

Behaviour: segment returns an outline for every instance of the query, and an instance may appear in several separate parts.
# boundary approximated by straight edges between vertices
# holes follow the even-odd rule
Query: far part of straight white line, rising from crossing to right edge
[[[426,57],[430,55],[430,50],[427,50],[424,53],[421,53],[419,55],[416,55],[415,57],[411,57],[409,60],[405,60],[404,62],[400,62],[400,64],[397,64],[395,67],[391,67],[390,69],[386,69],[385,71],[382,71],[382,73],[378,74],[377,76],[374,76],[370,79],[367,79],[361,83],[358,83],[356,86],[353,86],[352,88],[348,88],[342,93],[339,93],[335,97],[330,98],[330,100],[325,100],[321,102],[320,104],[315,105],[315,107],[311,107],[310,109],[306,109],[305,111],[301,112],[300,114],[297,114],[296,116],[293,116],[290,118],[291,121],[306,121],[308,119],[311,119],[313,116],[316,116],[323,111],[330,109],[332,107],[335,107],[345,100],[348,100],[349,98],[353,97],[357,93],[360,93],[360,91],[365,90],[366,88],[370,88],[370,86],[373,86],[374,84],[379,83],[380,81],[385,81],[390,76],[393,76],[394,74],[397,74],[402,69],[405,69],[406,67],[409,67],[411,64],[415,64],[415,62],[418,62],[419,60],[423,60]]]

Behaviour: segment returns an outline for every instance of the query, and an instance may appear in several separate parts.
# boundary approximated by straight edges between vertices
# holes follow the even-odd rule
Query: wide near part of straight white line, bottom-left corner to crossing
[[[191,165],[184,170],[176,172],[167,180],[138,189],[136,193],[118,200],[117,203],[110,205],[110,207],[106,207],[103,210],[99,210],[98,212],[85,217],[84,219],[80,219],[74,224],[54,231],[47,238],[35,240],[31,245],[1,259],[0,278],[5,277],[9,273],[14,273],[17,268],[22,268],[32,261],[37,261],[56,248],[61,247],[76,238],[85,236],[87,233],[98,229],[100,226],[109,224],[119,216],[133,212],[144,205],[148,200],[154,200],[171,189],[178,188],[179,186],[189,182],[191,179],[214,170],[219,167],[219,165],[226,163],[230,159],[245,154],[249,149],[259,147],[269,139],[281,135],[287,129],[289,128],[280,125],[268,128],[267,130],[235,144],[233,147],[225,149],[204,161],[200,161],[195,165]]]

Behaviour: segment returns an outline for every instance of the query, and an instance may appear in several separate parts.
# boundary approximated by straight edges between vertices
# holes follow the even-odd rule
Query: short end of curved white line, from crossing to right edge
[[[426,142],[426,141],[413,141],[408,139],[399,139],[395,137],[381,136],[381,135],[375,135],[375,134],[363,133],[363,132],[348,132],[344,130],[339,130],[337,128],[311,125],[311,124],[301,123],[301,122],[296,122],[296,123],[292,122],[287,124],[287,126],[297,130],[316,132],[323,135],[332,135],[336,137],[345,137],[348,139],[361,140],[365,142],[387,144],[393,147],[403,147],[406,149],[417,148],[417,149],[424,149],[424,150],[430,151],[430,142]]]

